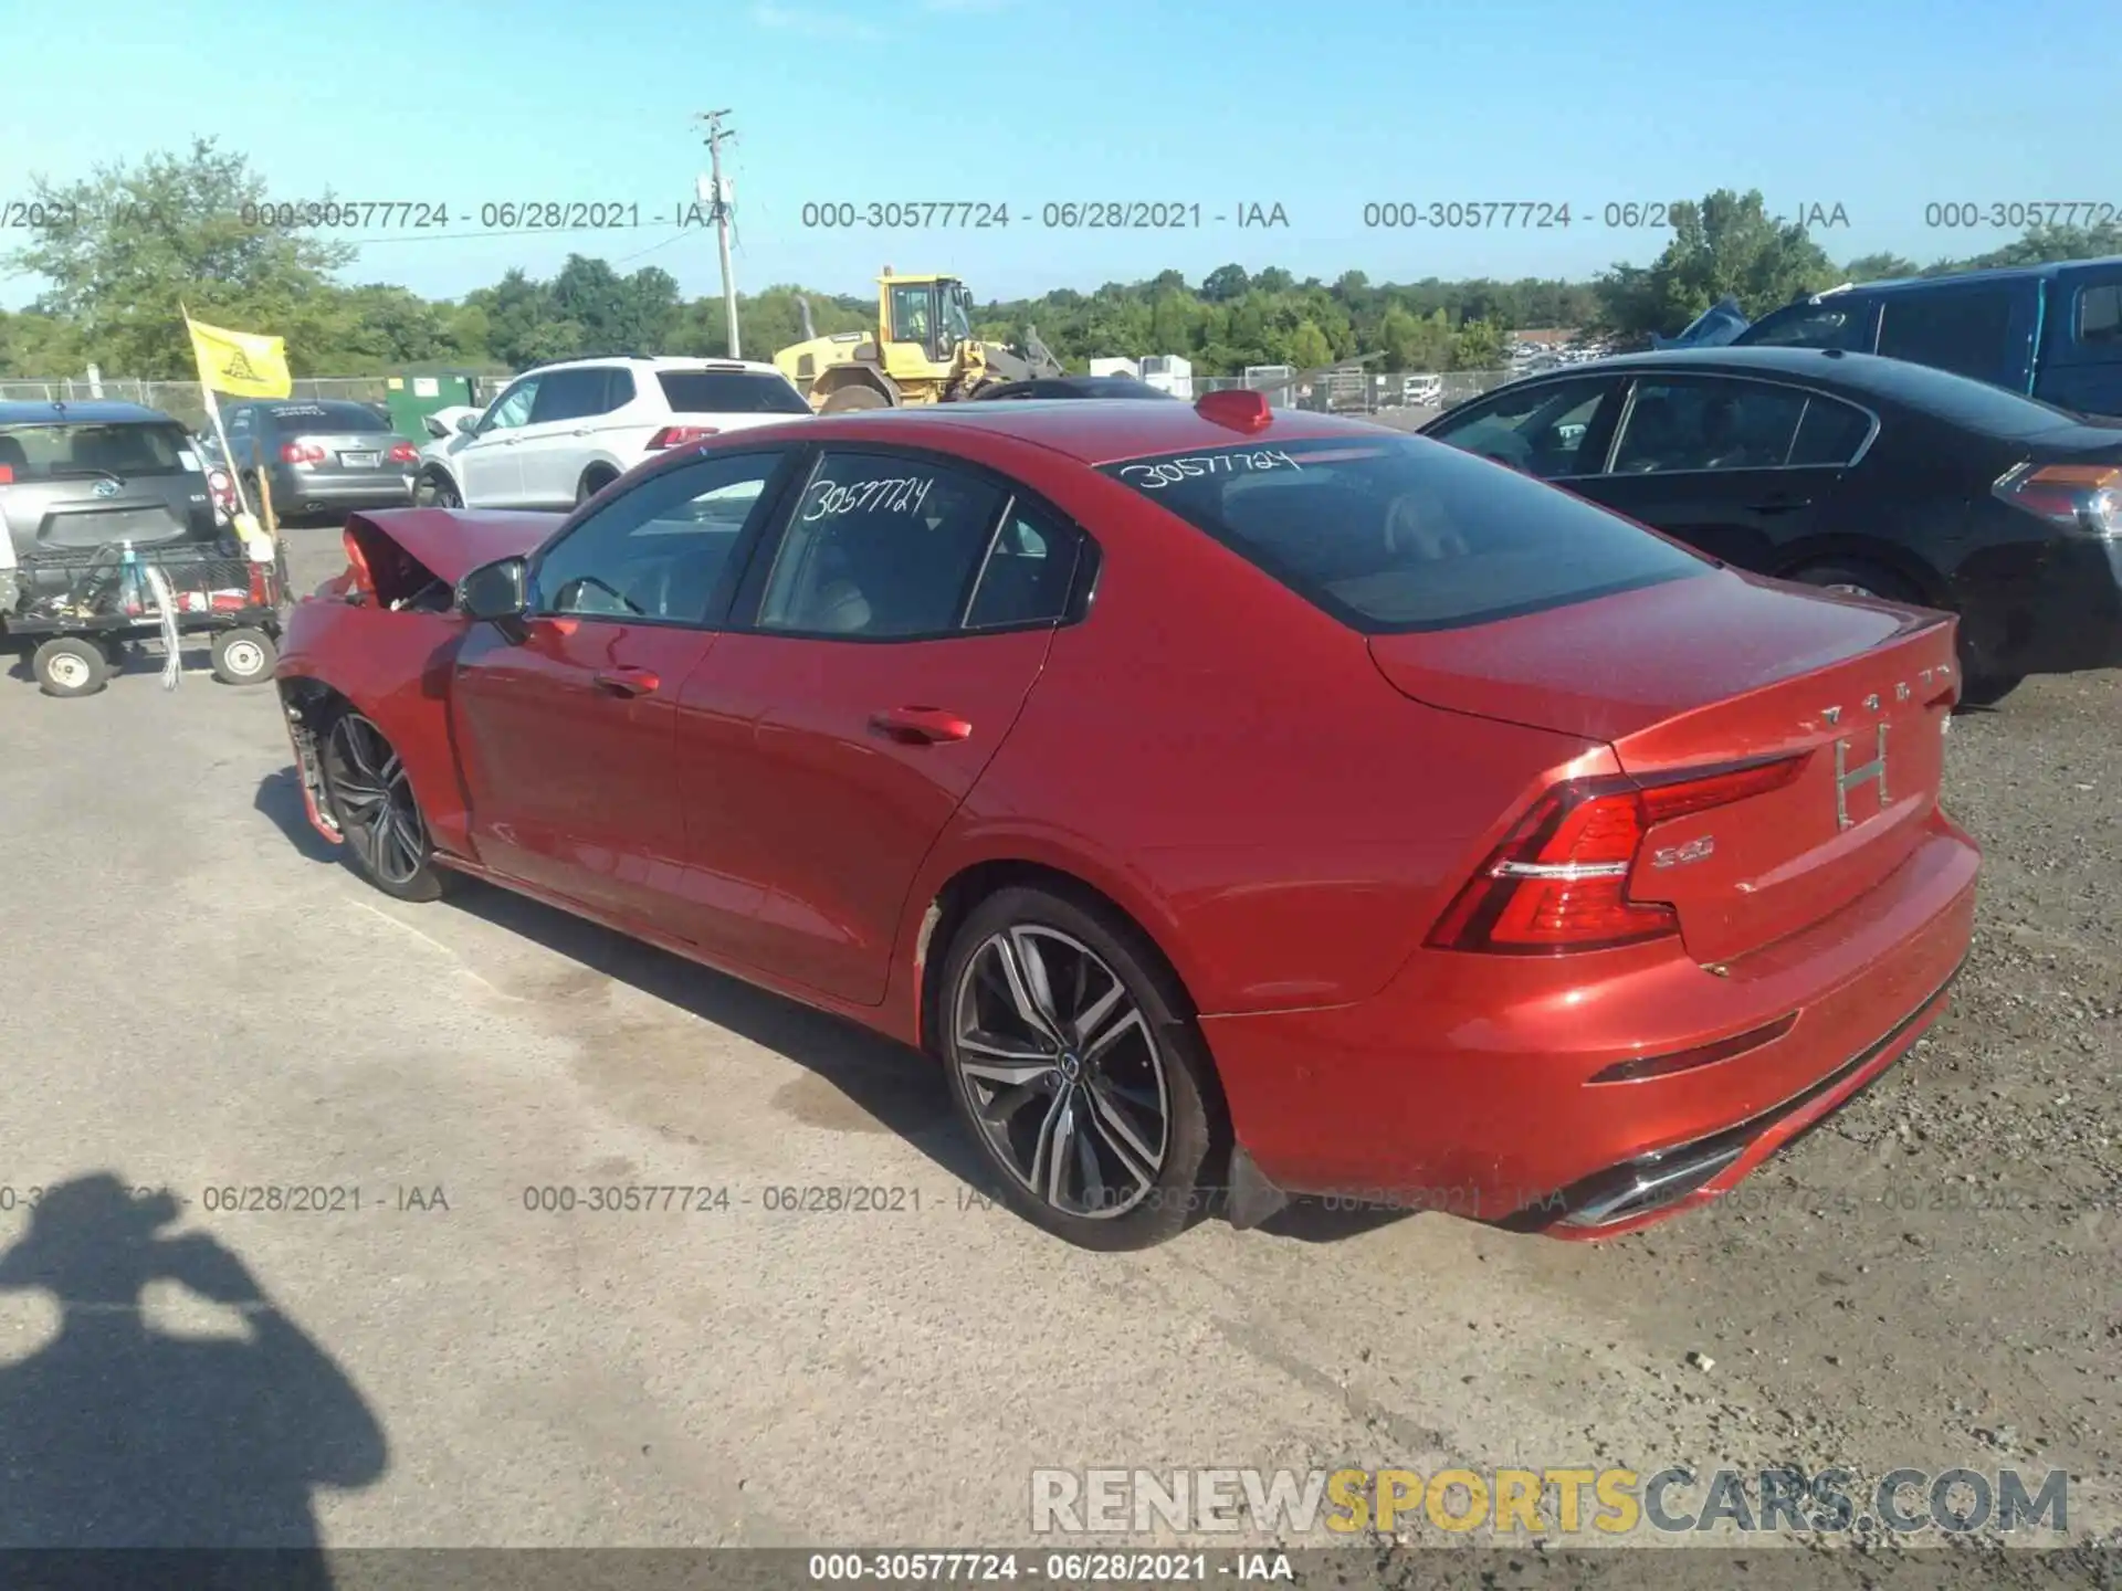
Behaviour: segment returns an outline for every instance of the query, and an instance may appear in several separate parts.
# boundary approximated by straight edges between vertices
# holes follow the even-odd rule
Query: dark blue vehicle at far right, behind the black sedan
[[[1844,284],[1761,316],[1732,346],[1884,354],[2122,414],[2122,257]]]

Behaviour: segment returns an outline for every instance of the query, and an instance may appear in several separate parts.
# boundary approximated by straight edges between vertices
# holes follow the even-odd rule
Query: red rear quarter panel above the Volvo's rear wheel
[[[1038,861],[1133,914],[1205,1014],[1356,1001],[1538,787],[1613,766],[1407,700],[1364,636],[1123,486],[1029,484],[1097,526],[1097,596],[932,851],[910,927],[959,870]]]

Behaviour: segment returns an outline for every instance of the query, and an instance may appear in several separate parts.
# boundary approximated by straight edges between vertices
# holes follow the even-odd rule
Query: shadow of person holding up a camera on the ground
[[[280,1549],[276,1585],[329,1587],[310,1493],[382,1476],[382,1426],[231,1249],[163,1232],[176,1218],[98,1173],[47,1188],[0,1254],[0,1290],[59,1305],[57,1336],[0,1364],[0,1546]],[[153,1283],[244,1334],[155,1330]]]

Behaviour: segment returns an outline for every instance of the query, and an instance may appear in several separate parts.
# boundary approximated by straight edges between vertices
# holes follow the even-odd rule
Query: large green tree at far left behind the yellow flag
[[[329,295],[331,272],[354,250],[265,225],[274,221],[257,208],[265,178],[212,138],[193,140],[185,155],[106,165],[64,187],[34,178],[32,197],[62,221],[13,250],[6,265],[49,282],[34,308],[66,318],[81,356],[106,371],[189,375],[180,301],[208,322],[284,335],[297,373],[327,352],[297,335],[297,308]]]

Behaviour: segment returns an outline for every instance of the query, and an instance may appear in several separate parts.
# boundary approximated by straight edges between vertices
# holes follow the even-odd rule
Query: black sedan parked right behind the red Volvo
[[[1623,354],[1424,431],[1763,575],[1948,609],[1963,698],[2122,666],[2122,422],[1869,354]]]

